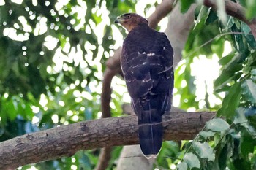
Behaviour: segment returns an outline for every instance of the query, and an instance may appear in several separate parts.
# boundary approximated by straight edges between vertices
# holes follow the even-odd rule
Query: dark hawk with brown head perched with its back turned
[[[162,147],[162,115],[170,111],[173,93],[173,48],[164,33],[135,13],[116,18],[127,29],[121,69],[138,115],[140,148],[147,158]]]

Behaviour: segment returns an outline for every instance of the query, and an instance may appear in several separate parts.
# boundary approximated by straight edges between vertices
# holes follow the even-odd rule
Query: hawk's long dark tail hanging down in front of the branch
[[[157,109],[150,109],[139,116],[140,148],[147,157],[156,157],[162,147],[162,117]]]

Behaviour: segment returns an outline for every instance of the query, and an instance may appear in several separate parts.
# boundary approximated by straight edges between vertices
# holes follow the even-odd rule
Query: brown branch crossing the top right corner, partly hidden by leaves
[[[203,4],[206,5],[206,7],[212,7],[213,9],[217,9],[216,1],[204,0]],[[247,20],[245,17],[244,7],[230,0],[225,0],[225,9],[226,9],[227,15],[230,15],[246,23],[251,28],[252,34],[253,36],[255,36],[255,39],[256,39],[256,18],[252,20]]]

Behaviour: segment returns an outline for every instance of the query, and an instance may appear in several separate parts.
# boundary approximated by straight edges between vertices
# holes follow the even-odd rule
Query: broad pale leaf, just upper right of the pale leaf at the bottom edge
[[[193,147],[195,149],[195,152],[197,152],[197,154],[201,158],[207,158],[208,161],[214,161],[214,158],[215,158],[214,150],[208,145],[208,143],[194,142]]]

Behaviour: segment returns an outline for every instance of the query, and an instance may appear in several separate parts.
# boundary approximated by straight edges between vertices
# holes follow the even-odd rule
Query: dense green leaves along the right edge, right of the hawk
[[[254,18],[255,14],[250,11],[252,6],[247,6],[250,3],[252,6],[255,5],[255,1],[241,1],[241,4],[248,8],[246,16]],[[191,147],[187,148],[183,161],[177,167],[178,169],[255,169],[255,38],[249,33],[249,27],[236,18],[228,17],[228,22],[223,24],[217,22],[216,15],[211,9],[205,14],[205,20],[203,15],[198,15],[200,22],[192,32],[196,31],[202,22],[207,24],[204,28],[216,23],[219,24],[219,34],[225,36],[220,39],[229,41],[233,45],[231,53],[223,57],[223,51],[219,53],[219,65],[222,69],[214,82],[215,93],[225,93],[217,116],[225,117],[226,120],[214,118],[209,121],[192,142]],[[211,42],[214,41],[213,39]],[[187,45],[188,43],[189,41]],[[195,44],[194,39],[192,43]],[[208,45],[211,46],[211,43]],[[195,46],[199,47],[199,45]],[[201,53],[202,51],[198,54]],[[187,157],[198,159],[200,166],[198,167],[197,161],[191,166]]]

